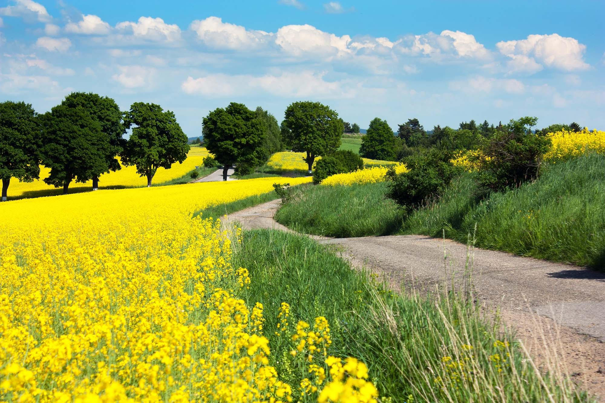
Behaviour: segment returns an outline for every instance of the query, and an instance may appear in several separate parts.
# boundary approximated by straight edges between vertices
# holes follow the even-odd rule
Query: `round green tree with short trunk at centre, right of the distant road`
[[[282,136],[295,151],[307,153],[304,161],[311,167],[317,156],[332,154],[341,143],[344,124],[338,113],[319,102],[299,101],[288,106]],[[285,133],[284,133],[285,132]]]

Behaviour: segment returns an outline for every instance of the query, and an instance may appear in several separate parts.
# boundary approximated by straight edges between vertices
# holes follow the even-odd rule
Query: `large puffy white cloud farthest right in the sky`
[[[529,35],[520,41],[502,41],[496,44],[500,53],[508,57],[525,55],[534,57],[548,67],[561,70],[583,70],[589,68],[583,60],[586,45],[577,39],[566,38],[559,34]]]

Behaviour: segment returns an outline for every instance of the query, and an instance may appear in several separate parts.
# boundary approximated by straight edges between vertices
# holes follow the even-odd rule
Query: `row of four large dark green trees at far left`
[[[122,112],[110,97],[71,93],[44,114],[25,102],[0,103],[0,150],[5,201],[11,178],[39,179],[41,164],[50,169],[44,182],[64,194],[72,182],[92,180],[96,190],[100,175],[121,168],[118,158],[151,186],[158,168],[185,160],[189,145],[174,113],[160,105],[135,102]]]

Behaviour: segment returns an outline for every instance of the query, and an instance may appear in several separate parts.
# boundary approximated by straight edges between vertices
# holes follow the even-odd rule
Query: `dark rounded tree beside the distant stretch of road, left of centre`
[[[232,166],[249,169],[264,162],[267,128],[263,118],[243,103],[215,109],[202,124],[206,148],[223,165],[223,180]]]

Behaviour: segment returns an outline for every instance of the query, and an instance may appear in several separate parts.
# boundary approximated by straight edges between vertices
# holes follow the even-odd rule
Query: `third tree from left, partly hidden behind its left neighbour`
[[[126,143],[122,137],[126,133],[122,124],[122,111],[115,100],[94,93],[71,93],[65,97],[61,105],[68,108],[82,107],[87,110],[91,118],[99,123],[100,134],[106,137],[102,143],[108,146],[99,149],[101,158],[94,159],[96,166],[92,167],[93,190],[96,190],[99,188],[101,174],[118,171],[122,168],[117,160],[117,156],[123,151]]]

